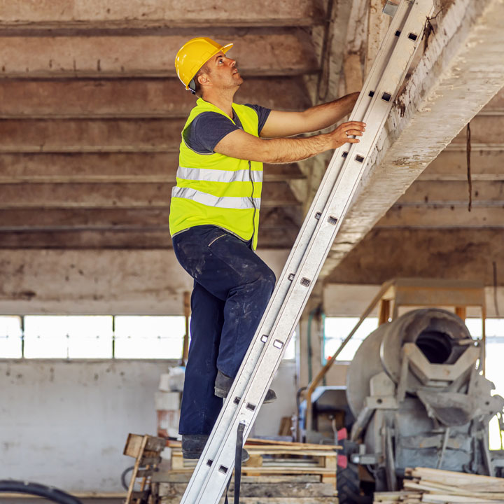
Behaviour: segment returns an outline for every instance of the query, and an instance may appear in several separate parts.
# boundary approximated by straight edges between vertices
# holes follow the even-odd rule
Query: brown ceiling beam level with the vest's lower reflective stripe
[[[0,209],[168,208],[172,187],[171,183],[1,184]],[[297,204],[286,182],[270,182],[262,188],[262,207],[292,207]]]

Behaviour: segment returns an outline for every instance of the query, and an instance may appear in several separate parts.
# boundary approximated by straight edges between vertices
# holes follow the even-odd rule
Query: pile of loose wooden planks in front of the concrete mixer
[[[402,491],[375,492],[375,504],[504,503],[504,478],[446,470],[407,469]]]

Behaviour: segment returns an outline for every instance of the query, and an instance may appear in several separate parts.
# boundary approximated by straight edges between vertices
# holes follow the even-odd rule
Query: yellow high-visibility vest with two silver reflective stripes
[[[232,108],[244,131],[258,137],[257,113],[246,105],[232,104]],[[231,119],[221,109],[200,98],[191,111],[184,130],[203,112],[217,112]],[[255,250],[262,163],[230,158],[218,153],[198,154],[186,145],[182,132],[176,182],[172,190],[169,215],[172,236],[196,225],[211,224],[246,241],[253,238]]]

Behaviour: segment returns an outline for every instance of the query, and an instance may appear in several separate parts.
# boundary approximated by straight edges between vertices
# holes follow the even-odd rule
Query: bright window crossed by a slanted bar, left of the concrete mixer
[[[324,324],[324,340],[323,340],[323,353],[322,363],[325,364],[329,358],[337,351],[339,345],[342,344],[344,339],[350,334],[351,330],[358,323],[358,317],[326,317]],[[344,349],[337,360],[352,360],[358,347],[367,337],[378,327],[377,317],[367,317],[357,332],[351,337],[350,341],[346,344]]]

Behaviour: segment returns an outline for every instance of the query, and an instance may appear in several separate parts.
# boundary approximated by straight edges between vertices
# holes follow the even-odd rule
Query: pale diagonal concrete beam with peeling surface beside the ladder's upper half
[[[430,34],[370,156],[321,279],[500,90],[504,82],[503,19],[501,0],[454,0],[438,15],[437,29]],[[382,256],[389,260],[386,254]],[[389,261],[394,264],[393,259]]]

